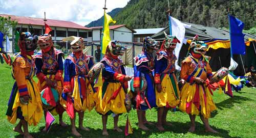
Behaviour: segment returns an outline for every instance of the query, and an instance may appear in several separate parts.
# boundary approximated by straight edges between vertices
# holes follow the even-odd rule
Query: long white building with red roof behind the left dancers
[[[19,31],[20,27],[22,27],[23,32],[32,32],[31,26],[33,27],[35,35],[42,35],[45,33],[45,22],[42,18],[33,18],[33,17],[23,17],[23,16],[14,16],[7,14],[0,14],[2,17],[10,16],[11,19],[16,20],[18,24],[15,28],[10,30],[10,34],[12,37],[9,37],[10,40],[10,49],[8,52],[14,52],[14,40],[15,40],[15,31]],[[85,44],[96,43],[100,44],[101,41],[101,32],[102,26],[98,27],[84,27],[82,25],[76,24],[71,21],[63,21],[63,20],[54,20],[47,19],[46,23],[51,27],[52,32],[49,34],[52,35],[52,39],[54,44],[60,45],[61,47],[70,47],[70,42],[63,42],[62,39],[69,36],[78,36],[83,37],[83,41]],[[110,36],[112,40],[118,40],[120,42],[132,43],[133,42],[133,34],[136,33],[133,29],[130,29],[125,24],[121,25],[110,25]],[[6,47],[6,41],[3,42],[4,47]],[[88,49],[90,48],[90,50]],[[93,53],[93,49],[96,46],[87,47],[88,54]],[[2,49],[2,50],[5,50]],[[90,52],[89,52],[90,51]]]

